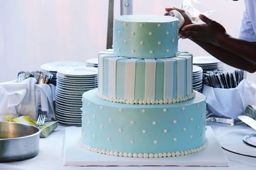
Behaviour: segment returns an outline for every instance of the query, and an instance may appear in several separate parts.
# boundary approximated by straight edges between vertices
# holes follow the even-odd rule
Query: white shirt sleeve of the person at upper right
[[[253,11],[254,13],[256,13],[256,9],[253,9]],[[246,10],[243,14],[239,38],[246,41],[256,42],[256,34],[253,29],[253,23],[251,18],[252,13],[250,12],[252,12],[252,9],[248,9],[248,6],[246,4]]]

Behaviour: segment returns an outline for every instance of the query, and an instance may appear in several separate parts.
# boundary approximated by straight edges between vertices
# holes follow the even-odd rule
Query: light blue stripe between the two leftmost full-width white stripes
[[[118,60],[116,62],[116,97],[122,99],[124,98],[126,60]]]

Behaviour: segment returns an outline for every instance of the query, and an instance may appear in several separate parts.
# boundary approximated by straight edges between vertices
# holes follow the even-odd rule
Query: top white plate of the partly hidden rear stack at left
[[[70,67],[81,67],[85,66],[85,63],[83,62],[77,62],[77,61],[58,61],[58,62],[49,62],[46,64],[43,64],[40,69],[44,71],[50,71],[51,73],[56,73],[59,69],[68,69]]]

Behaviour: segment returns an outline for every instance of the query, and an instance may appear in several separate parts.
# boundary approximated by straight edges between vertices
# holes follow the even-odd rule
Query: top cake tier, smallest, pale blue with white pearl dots
[[[175,57],[178,51],[178,24],[175,17],[122,15],[115,18],[115,55],[141,59]]]

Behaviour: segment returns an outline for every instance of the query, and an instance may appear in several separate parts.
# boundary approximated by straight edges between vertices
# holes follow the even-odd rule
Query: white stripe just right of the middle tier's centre
[[[155,99],[156,90],[156,60],[145,59],[145,99]]]

